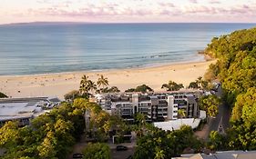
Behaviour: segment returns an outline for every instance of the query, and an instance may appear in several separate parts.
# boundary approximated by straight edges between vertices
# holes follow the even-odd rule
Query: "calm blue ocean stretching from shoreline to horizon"
[[[37,75],[203,61],[212,37],[255,24],[0,25],[0,75]]]

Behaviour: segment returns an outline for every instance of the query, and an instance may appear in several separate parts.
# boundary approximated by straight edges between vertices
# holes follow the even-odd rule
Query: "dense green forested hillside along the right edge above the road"
[[[206,54],[218,58],[207,78],[218,78],[232,107],[227,138],[231,149],[256,149],[256,28],[212,39]]]

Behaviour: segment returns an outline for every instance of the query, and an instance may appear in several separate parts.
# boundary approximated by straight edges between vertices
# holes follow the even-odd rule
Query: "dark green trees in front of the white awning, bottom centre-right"
[[[179,130],[165,132],[152,127],[138,138],[134,154],[135,159],[164,159],[179,156],[186,148],[195,152],[200,150],[201,143],[194,136],[190,126],[183,125]]]

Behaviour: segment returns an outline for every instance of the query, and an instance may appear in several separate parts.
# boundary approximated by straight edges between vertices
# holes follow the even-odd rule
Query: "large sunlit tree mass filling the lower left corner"
[[[97,130],[91,133],[95,136],[107,135],[110,128],[118,126],[117,121],[120,121],[116,117],[111,119],[99,105],[78,98],[73,104],[61,104],[50,113],[36,117],[29,126],[18,127],[17,122],[7,122],[0,128],[0,147],[7,150],[3,158],[66,158],[84,133],[86,112],[91,117],[88,130]]]

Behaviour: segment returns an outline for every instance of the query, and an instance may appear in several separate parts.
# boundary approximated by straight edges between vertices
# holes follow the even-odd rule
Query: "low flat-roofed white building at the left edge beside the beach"
[[[29,97],[0,99],[0,127],[7,121],[18,121],[19,126],[30,124],[30,119],[49,112],[60,104],[56,97]]]

